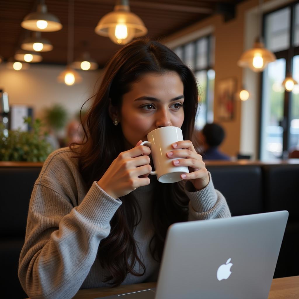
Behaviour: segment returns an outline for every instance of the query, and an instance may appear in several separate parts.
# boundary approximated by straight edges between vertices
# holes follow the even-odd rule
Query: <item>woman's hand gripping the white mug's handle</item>
[[[141,140],[125,152],[121,152],[111,163],[97,184],[110,196],[117,199],[138,187],[150,183],[148,175],[152,171],[150,148],[141,144]]]

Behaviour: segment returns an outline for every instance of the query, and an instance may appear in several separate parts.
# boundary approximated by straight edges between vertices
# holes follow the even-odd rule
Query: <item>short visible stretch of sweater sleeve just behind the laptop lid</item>
[[[189,181],[185,184],[185,193],[190,199],[189,221],[231,217],[224,196],[214,188],[210,172],[209,179],[202,190],[196,190]]]

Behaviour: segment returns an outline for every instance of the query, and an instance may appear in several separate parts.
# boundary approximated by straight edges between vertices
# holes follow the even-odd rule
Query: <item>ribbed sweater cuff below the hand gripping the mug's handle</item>
[[[109,224],[121,201],[109,196],[96,181],[87,192],[81,204],[76,208],[77,212],[87,221],[97,226]]]

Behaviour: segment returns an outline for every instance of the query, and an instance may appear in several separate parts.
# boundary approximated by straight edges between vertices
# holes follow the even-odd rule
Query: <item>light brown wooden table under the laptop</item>
[[[149,289],[156,283],[138,283],[117,288],[98,288],[79,290],[73,299],[94,299],[128,292]],[[269,299],[298,299],[299,298],[299,276],[276,278],[272,280]],[[188,298],[186,298],[188,299]],[[255,298],[252,298],[255,299]]]

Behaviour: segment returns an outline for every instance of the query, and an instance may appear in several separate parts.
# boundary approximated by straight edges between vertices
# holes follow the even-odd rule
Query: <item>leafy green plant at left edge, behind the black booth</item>
[[[41,120],[32,122],[31,118],[24,118],[24,122],[32,126],[31,132],[20,130],[4,130],[0,125],[0,161],[28,161],[43,162],[53,151],[47,141],[48,133],[42,133]]]

